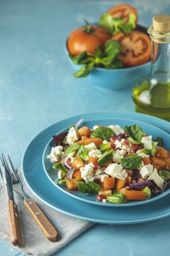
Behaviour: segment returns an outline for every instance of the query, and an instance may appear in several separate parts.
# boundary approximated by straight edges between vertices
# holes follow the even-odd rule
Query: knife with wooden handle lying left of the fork
[[[15,199],[14,199],[11,177],[5,165],[4,165],[4,173],[6,178],[7,194],[9,197],[7,210],[8,210],[8,219],[9,219],[10,241],[15,246],[23,245],[23,237],[21,236],[21,232],[20,232],[20,217],[18,213],[18,206],[16,205]]]

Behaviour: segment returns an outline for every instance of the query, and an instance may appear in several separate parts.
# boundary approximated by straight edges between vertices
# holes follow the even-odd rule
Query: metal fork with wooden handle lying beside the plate
[[[49,219],[47,219],[47,217],[42,212],[42,210],[39,208],[39,206],[36,204],[36,202],[33,199],[31,199],[30,197],[28,197],[28,195],[26,194],[26,192],[23,189],[23,183],[20,179],[20,176],[18,175],[17,170],[15,170],[15,167],[12,164],[12,161],[11,161],[9,155],[7,157],[8,157],[10,167],[7,163],[7,159],[5,159],[5,157],[4,157],[4,159],[5,159],[7,168],[9,169],[10,173],[12,173],[13,176],[14,176],[14,181],[13,182],[15,184],[16,183],[20,184],[20,188],[23,192],[23,204],[24,204],[24,206],[26,206],[26,208],[28,209],[29,214],[31,214],[31,217],[34,219],[36,224],[42,230],[42,233],[45,234],[47,239],[50,240],[50,241],[56,241],[57,236],[58,236],[57,230],[55,230],[55,227],[53,227],[53,225],[51,224]],[[20,195],[20,193],[18,193],[18,194]]]

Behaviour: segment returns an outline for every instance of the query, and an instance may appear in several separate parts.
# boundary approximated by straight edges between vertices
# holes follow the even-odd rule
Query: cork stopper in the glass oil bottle
[[[153,30],[166,33],[170,31],[170,16],[166,14],[158,14],[152,18]]]

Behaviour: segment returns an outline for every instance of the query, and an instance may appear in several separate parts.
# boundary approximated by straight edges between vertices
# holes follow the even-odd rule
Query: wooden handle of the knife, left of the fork
[[[18,207],[13,200],[8,201],[9,233],[13,245],[23,244],[23,238],[20,232],[20,217]]]

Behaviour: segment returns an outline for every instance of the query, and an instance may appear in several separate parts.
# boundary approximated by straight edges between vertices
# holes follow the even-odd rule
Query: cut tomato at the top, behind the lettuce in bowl
[[[107,11],[110,15],[112,15],[115,18],[123,18],[125,22],[128,22],[128,15],[130,12],[133,12],[136,16],[136,23],[138,19],[138,13],[137,10],[132,7],[130,4],[118,4],[115,7],[112,7]]]

